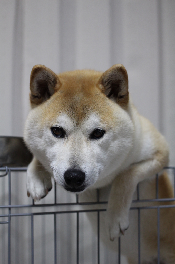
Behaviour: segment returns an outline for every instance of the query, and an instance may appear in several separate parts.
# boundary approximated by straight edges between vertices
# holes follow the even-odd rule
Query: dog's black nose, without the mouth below
[[[64,180],[69,187],[77,188],[85,180],[85,173],[77,169],[68,169],[64,173]]]

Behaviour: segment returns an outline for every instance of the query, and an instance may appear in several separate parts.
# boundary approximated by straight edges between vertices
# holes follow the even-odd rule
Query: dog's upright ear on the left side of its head
[[[58,76],[44,65],[35,65],[30,74],[30,103],[37,106],[48,100],[60,87]]]

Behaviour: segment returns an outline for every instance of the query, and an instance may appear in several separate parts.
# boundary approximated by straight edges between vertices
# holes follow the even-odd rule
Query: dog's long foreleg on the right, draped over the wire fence
[[[132,164],[116,176],[107,208],[107,228],[112,241],[128,228],[128,214],[137,183],[161,171],[167,162],[168,153],[157,151],[152,159]]]

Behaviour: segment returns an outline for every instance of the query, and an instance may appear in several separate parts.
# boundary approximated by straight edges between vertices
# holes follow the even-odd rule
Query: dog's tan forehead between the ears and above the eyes
[[[61,87],[47,104],[47,115],[51,120],[65,121],[65,117],[69,117],[76,125],[82,125],[85,120],[98,123],[99,116],[101,121],[109,120],[112,116],[111,101],[97,87],[101,73],[91,73],[94,71],[59,75]]]

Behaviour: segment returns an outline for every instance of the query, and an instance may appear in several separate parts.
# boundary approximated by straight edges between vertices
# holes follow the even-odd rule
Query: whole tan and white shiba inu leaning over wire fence
[[[102,194],[110,186],[102,239],[116,248],[115,238],[124,234],[129,225],[137,183],[168,164],[166,140],[150,121],[138,114],[129,97],[125,67],[117,64],[104,73],[75,70],[56,75],[49,68],[36,65],[30,76],[30,103],[32,110],[24,130],[25,143],[34,155],[27,171],[28,196],[40,200],[47,195],[52,188],[52,176],[65,190],[81,193],[82,200],[83,191],[86,190],[88,199],[96,188]],[[172,188],[168,177],[161,177],[159,191],[169,197]],[[141,185],[142,197],[151,197],[153,181]],[[162,213],[163,219],[172,210]],[[150,217],[152,223],[148,225]],[[137,260],[132,242],[134,219],[131,215],[131,228],[124,236],[126,254],[132,263]],[[146,246],[143,250],[143,260],[149,261],[157,253],[155,213],[149,212],[141,222],[141,239],[149,247],[148,252]],[[170,222],[171,234],[164,231],[161,237],[162,261],[175,263],[175,228]],[[163,220],[161,228],[162,223],[169,226]],[[151,235],[154,241],[149,241]]]

